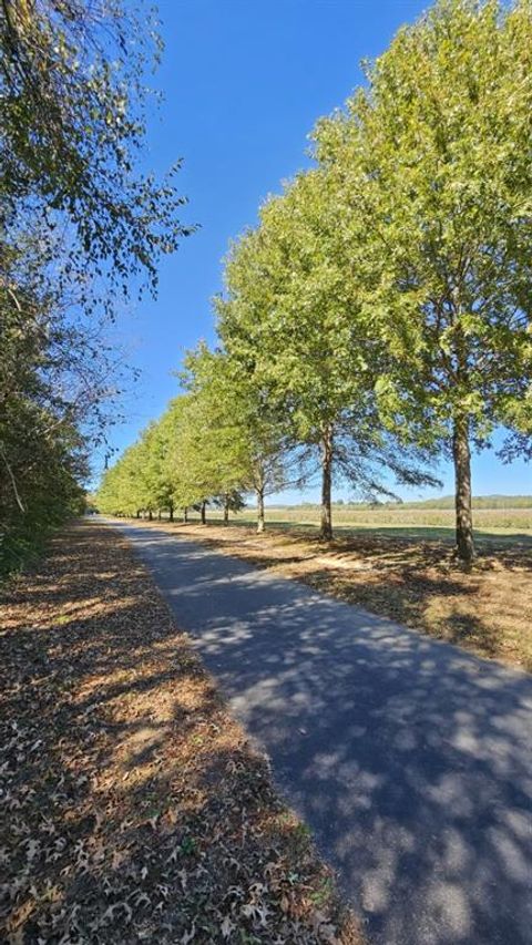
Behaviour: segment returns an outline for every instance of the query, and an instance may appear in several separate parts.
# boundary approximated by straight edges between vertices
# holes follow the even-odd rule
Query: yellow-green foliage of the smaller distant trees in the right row
[[[252,388],[234,367],[204,345],[190,352],[183,372],[188,392],[105,473],[96,496],[101,511],[173,513],[213,503],[228,514],[243,507],[243,493],[264,499],[280,486],[282,446],[258,422]]]

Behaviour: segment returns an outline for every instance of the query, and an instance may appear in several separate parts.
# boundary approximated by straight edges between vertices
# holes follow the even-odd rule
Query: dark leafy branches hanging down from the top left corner
[[[121,0],[2,0],[0,195],[2,228],[39,219],[55,242],[68,227],[61,276],[94,304],[94,278],[129,294],[131,277],[156,287],[161,254],[177,248],[178,162],[157,183],[139,170],[155,23]],[[42,236],[41,236],[42,239]]]

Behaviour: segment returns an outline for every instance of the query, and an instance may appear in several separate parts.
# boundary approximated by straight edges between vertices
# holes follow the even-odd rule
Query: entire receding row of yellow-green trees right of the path
[[[471,563],[471,450],[502,425],[502,455],[530,455],[531,0],[439,0],[366,80],[318,122],[316,166],[232,246],[219,343],[104,480],[109,511],[162,427],[172,501],[253,484],[259,523],[263,482],[319,462],[326,538],[335,479],[375,497],[433,482],[446,455]]]

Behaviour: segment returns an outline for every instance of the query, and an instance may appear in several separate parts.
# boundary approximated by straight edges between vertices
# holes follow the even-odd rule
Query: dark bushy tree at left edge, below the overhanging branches
[[[103,410],[96,362],[89,358],[80,372],[72,351],[80,341],[90,351],[91,341],[40,279],[38,236],[10,253],[0,279],[0,572],[21,566],[79,509],[80,422],[98,425],[94,408]]]

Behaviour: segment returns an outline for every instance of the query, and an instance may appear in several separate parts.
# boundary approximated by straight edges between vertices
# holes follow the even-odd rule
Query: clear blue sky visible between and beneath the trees
[[[202,228],[164,261],[157,301],[145,300],[121,320],[121,342],[142,378],[114,446],[133,442],[175,396],[172,371],[184,350],[198,338],[214,340],[209,299],[222,288],[229,239],[254,224],[280,181],[308,164],[308,134],[361,82],[360,60],[378,55],[426,7],[419,0],[160,0],[166,48],[153,84],[165,101],[150,127],[146,165],[164,172],[183,157],[184,217]],[[452,492],[444,464],[441,474],[443,492]],[[530,466],[503,466],[493,453],[475,459],[473,474],[475,494],[531,491]],[[309,489],[305,497],[316,496]]]

